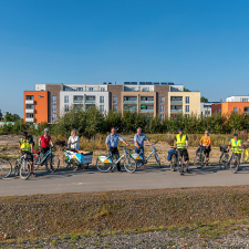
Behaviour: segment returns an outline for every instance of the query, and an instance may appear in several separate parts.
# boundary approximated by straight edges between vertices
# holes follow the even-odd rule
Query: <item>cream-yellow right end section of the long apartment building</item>
[[[168,115],[200,115],[200,92],[168,92]]]

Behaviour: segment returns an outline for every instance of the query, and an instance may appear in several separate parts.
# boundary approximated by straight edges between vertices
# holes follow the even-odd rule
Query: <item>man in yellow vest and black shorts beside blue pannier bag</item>
[[[190,174],[188,169],[188,163],[189,163],[189,157],[188,157],[188,136],[184,134],[184,128],[179,127],[178,133],[175,137],[174,141],[174,147],[176,147],[180,154],[180,156],[184,158],[185,164],[186,164],[186,173]]]

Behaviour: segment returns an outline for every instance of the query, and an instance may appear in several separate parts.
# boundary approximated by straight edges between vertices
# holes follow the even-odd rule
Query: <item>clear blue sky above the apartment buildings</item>
[[[35,83],[164,81],[249,94],[249,1],[0,1],[0,110]]]

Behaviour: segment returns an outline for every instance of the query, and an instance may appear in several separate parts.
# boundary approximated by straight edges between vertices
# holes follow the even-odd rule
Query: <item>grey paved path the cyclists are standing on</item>
[[[203,169],[193,166],[190,175],[180,176],[170,172],[169,167],[141,168],[134,174],[100,173],[95,168],[52,174],[39,170],[38,177],[29,180],[12,177],[0,180],[0,196],[249,185],[249,165],[242,166],[237,174],[229,169],[219,170],[218,166]]]

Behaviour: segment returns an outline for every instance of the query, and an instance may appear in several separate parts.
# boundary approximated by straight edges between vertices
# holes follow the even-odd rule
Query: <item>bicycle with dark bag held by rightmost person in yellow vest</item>
[[[220,146],[221,156],[219,158],[220,169],[226,169],[230,165],[230,170],[236,174],[239,168],[239,158],[236,156],[236,153],[232,152],[231,157],[229,158],[229,151],[227,145]]]

